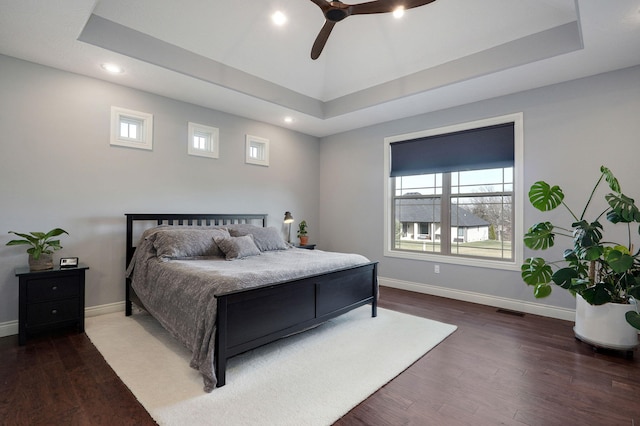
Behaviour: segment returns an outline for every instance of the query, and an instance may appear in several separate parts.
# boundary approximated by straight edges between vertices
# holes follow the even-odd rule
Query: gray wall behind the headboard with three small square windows
[[[109,145],[112,105],[154,115],[153,151]],[[187,155],[188,121],[220,129],[219,159]],[[244,163],[247,133],[270,140],[269,167]],[[0,135],[0,326],[27,263],[11,230],[67,230],[54,260],[90,266],[88,307],[124,300],[124,213],[268,213],[284,232],[290,210],[319,235],[315,137],[6,56]]]

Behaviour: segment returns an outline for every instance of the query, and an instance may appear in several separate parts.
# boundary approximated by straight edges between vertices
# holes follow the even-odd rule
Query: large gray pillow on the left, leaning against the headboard
[[[225,228],[168,227],[151,236],[156,256],[165,259],[224,256],[214,238],[229,237]]]

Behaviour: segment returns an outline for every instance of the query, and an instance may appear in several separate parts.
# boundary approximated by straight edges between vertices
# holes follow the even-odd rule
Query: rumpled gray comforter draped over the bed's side
[[[166,260],[141,241],[127,276],[149,313],[192,352],[191,367],[216,386],[215,295],[368,263],[357,254],[291,248],[227,261],[222,257]]]

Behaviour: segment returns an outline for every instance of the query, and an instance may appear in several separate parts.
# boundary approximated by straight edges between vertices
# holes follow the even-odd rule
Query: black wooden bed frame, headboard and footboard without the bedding
[[[265,227],[266,214],[126,214],[127,266],[133,258],[136,223],[146,228],[156,225],[220,226],[251,223]],[[145,223],[146,222],[146,223]],[[377,315],[377,262],[306,276],[247,290],[216,295],[218,312],[215,341],[217,387],[224,386],[227,360],[234,355],[371,304]],[[144,304],[126,280],[125,314],[132,303]]]

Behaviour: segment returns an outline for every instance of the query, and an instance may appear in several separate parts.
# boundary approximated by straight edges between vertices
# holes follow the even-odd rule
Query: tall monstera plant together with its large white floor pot
[[[611,190],[604,196],[607,207],[589,222],[585,215],[603,180]],[[562,205],[571,217],[570,226],[560,227],[550,222],[533,225],[524,236],[528,248],[548,249],[554,245],[556,235],[573,240],[573,246],[564,251],[562,260],[547,262],[541,257],[525,260],[521,268],[522,279],[533,286],[534,296],[546,297],[551,294],[551,283],[558,285],[577,296],[574,328],[577,338],[596,347],[629,351],[635,348],[640,330],[637,305],[640,252],[633,252],[632,235],[637,240],[640,211],[634,200],[621,192],[618,180],[602,166],[600,178],[579,217],[564,203],[562,189],[544,181],[531,186],[529,201],[541,211]],[[626,224],[628,241],[625,245],[604,240],[604,227],[600,223],[603,217],[614,225]],[[559,263],[563,267],[557,266]]]

